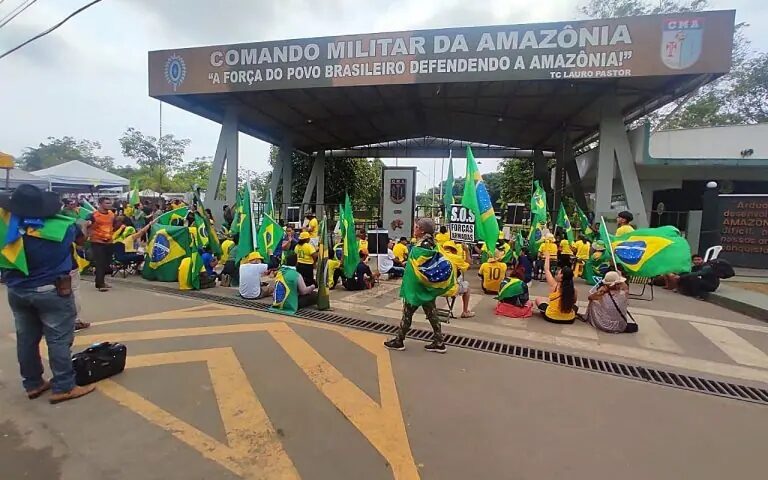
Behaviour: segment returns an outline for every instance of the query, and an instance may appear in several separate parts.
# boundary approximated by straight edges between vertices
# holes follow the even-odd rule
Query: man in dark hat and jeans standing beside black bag
[[[46,219],[60,209],[59,196],[22,184],[13,194],[0,195],[0,215],[9,227],[9,235],[18,233],[13,242],[21,242],[27,273],[4,266],[2,276],[7,286],[8,305],[16,324],[16,353],[22,385],[30,399],[52,390],[50,403],[59,403],[87,395],[93,385],[77,386],[72,367],[71,346],[77,311],[71,289],[73,269],[72,243],[82,244],[85,237],[74,223],[65,226],[60,241],[35,235],[45,228]],[[60,217],[63,218],[63,217]],[[58,234],[56,235],[58,237]],[[8,235],[0,243],[9,242]],[[3,245],[5,246],[5,245]],[[8,258],[3,257],[7,265]],[[53,378],[43,377],[40,340],[45,337]]]

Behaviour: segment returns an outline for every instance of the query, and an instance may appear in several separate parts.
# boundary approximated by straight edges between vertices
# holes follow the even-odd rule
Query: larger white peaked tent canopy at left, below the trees
[[[127,187],[129,184],[126,178],[79,160],[72,160],[31,173],[48,180],[53,190],[90,191]]]

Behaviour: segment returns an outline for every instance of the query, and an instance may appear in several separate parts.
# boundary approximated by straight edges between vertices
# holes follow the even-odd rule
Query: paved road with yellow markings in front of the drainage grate
[[[122,341],[128,368],[74,402],[28,401],[3,321],[3,478],[721,479],[765,468],[764,406],[419,342],[390,354],[373,333],[124,285],[84,294],[95,324],[75,348]]]

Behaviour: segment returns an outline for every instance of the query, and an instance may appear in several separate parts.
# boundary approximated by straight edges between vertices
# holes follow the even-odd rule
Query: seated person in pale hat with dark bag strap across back
[[[635,333],[636,323],[627,322],[629,312],[627,279],[619,272],[610,271],[594,293],[589,294],[586,321],[596,329],[608,333]]]

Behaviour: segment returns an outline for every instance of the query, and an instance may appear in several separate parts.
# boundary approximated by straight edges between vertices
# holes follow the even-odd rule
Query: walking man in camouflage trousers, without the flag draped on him
[[[435,249],[435,239],[432,236],[435,233],[435,222],[431,218],[421,218],[416,222],[414,227],[414,236],[417,238],[416,245],[428,249]],[[415,275],[414,271],[410,268],[405,270],[405,277],[403,278],[403,285],[407,285],[409,282],[409,275]],[[402,296],[402,293],[401,293]],[[445,344],[443,343],[443,333],[440,326],[440,318],[437,316],[437,307],[435,306],[435,298],[423,303],[421,305],[424,310],[424,314],[429,320],[429,324],[432,325],[432,331],[434,337],[432,343],[424,347],[428,352],[445,353]],[[400,329],[397,332],[397,336],[391,340],[384,342],[384,346],[390,350],[405,350],[404,340],[408,334],[408,330],[413,323],[413,314],[418,310],[418,305],[411,305],[408,302],[403,302],[403,317],[400,320]]]

